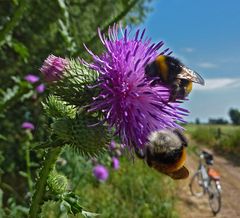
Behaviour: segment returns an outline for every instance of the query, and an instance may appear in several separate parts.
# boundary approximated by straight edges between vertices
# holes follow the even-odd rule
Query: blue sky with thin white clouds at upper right
[[[152,6],[141,27],[206,81],[194,85],[184,105],[187,120],[229,119],[229,108],[240,109],[240,0],[155,0]]]

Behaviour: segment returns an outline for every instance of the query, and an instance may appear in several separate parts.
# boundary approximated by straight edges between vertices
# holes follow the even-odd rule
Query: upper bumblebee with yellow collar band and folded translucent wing
[[[148,64],[145,74],[150,78],[159,78],[155,82],[161,81],[170,86],[171,95],[169,101],[173,102],[184,99],[192,91],[192,83],[204,85],[203,78],[195,71],[187,68],[178,59],[159,55],[155,61]]]

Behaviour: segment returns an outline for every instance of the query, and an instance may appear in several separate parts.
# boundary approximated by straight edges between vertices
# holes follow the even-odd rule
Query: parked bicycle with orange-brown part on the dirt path
[[[197,172],[189,184],[192,195],[201,197],[208,193],[209,205],[214,215],[221,209],[220,174],[210,165],[213,165],[213,155],[201,151]]]

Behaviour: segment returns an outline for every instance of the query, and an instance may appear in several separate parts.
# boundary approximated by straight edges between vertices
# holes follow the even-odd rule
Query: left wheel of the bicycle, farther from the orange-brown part
[[[189,184],[192,195],[201,197],[204,194],[203,178],[200,171],[197,171]]]

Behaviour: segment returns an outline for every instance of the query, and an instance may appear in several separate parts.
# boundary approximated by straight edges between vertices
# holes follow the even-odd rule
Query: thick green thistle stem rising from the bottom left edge
[[[29,218],[37,218],[41,210],[43,197],[46,190],[47,178],[54,167],[54,164],[61,153],[61,147],[55,147],[48,150],[43,167],[39,174],[39,179],[36,183],[35,193],[33,195],[32,204],[29,211]]]

